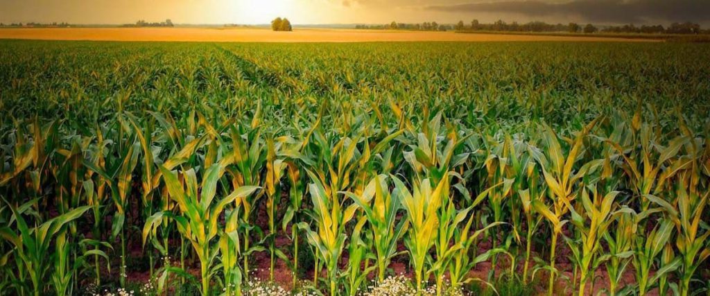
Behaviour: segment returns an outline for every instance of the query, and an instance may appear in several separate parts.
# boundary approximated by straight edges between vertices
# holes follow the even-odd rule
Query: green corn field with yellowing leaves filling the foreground
[[[1,40],[0,295],[707,295],[709,52]]]

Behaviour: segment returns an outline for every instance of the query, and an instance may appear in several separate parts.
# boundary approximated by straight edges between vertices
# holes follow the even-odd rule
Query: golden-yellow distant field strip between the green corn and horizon
[[[264,28],[7,28],[0,39],[217,41],[217,42],[377,42],[377,41],[660,41],[653,39],[572,35],[491,34],[355,29],[296,29],[274,32]]]

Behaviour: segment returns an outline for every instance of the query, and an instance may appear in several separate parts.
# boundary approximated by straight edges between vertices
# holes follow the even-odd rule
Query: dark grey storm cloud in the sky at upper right
[[[425,9],[455,13],[518,13],[530,17],[572,15],[600,23],[710,21],[710,0],[504,0],[430,5]]]

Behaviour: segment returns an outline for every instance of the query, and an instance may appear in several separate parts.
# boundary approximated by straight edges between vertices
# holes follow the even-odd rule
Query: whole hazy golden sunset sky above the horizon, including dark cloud
[[[710,0],[0,0],[0,22],[119,24],[525,23],[665,24],[710,26]]]

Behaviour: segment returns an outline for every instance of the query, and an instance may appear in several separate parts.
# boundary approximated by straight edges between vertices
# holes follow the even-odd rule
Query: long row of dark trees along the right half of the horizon
[[[383,25],[365,25],[359,24],[355,28],[359,29],[374,29],[374,30],[414,30],[414,31],[501,31],[501,32],[569,32],[569,33],[666,33],[666,34],[700,34],[710,33],[709,30],[702,30],[697,23],[684,22],[672,23],[667,28],[662,25],[643,25],[640,27],[633,24],[623,26],[594,26],[587,23],[581,25],[578,23],[545,23],[542,21],[531,21],[528,23],[506,23],[506,21],[498,20],[493,23],[481,23],[474,19],[471,23],[459,21],[455,25],[439,24],[435,21],[425,23],[397,23],[393,21]]]

